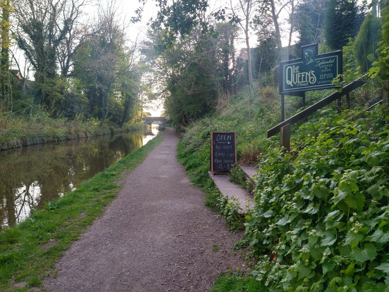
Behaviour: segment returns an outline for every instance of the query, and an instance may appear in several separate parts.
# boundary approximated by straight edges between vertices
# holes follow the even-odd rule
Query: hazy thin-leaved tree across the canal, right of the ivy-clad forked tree
[[[115,122],[121,124],[127,119],[133,95],[131,82],[127,79],[131,79],[133,74],[131,67],[137,44],[133,47],[126,46],[125,27],[113,2],[99,9],[98,19],[92,29],[96,33],[86,38],[72,58],[72,75],[84,84],[89,100],[89,112],[96,114],[99,119],[108,117],[110,102],[115,106],[120,104],[118,109],[124,106],[127,111],[124,118],[123,113],[115,112]],[[110,100],[110,97],[113,98]],[[127,100],[127,103],[123,103],[123,99]]]

